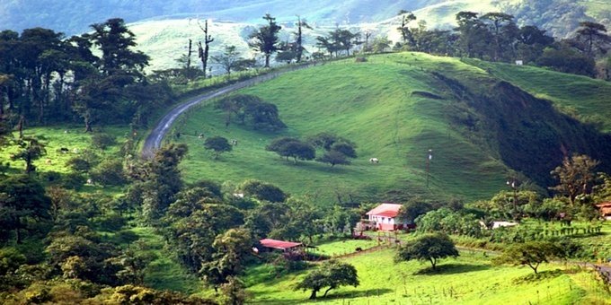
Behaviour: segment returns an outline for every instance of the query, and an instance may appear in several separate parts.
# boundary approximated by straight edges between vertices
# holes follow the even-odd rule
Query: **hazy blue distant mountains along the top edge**
[[[560,36],[585,19],[607,24],[611,20],[611,0],[13,0],[0,2],[0,30],[40,26],[71,35],[113,17],[126,22],[191,17],[252,23],[264,13],[271,13],[280,22],[299,14],[310,22],[342,25],[382,22],[402,9],[429,16],[429,25],[446,26],[461,10],[502,10],[515,14],[519,22]]]

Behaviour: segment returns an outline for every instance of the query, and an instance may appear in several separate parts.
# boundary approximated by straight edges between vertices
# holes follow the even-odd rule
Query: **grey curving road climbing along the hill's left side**
[[[170,112],[168,112],[167,114],[164,115],[164,118],[162,118],[158,123],[157,126],[155,126],[155,128],[153,128],[153,130],[151,131],[151,133],[146,137],[145,143],[142,146],[142,157],[144,159],[149,159],[151,158],[154,154],[155,151],[157,149],[159,149],[159,147],[161,147],[161,143],[164,140],[164,136],[168,133],[168,131],[170,130],[170,127],[173,125],[174,121],[176,120],[176,118],[178,118],[182,113],[184,113],[184,111],[186,111],[187,109],[190,109],[191,107],[199,104],[202,101],[206,101],[206,100],[211,100],[214,98],[217,98],[219,96],[225,95],[227,93],[231,93],[231,92],[235,92],[237,90],[243,89],[245,87],[249,87],[252,86],[254,84],[257,83],[263,83],[263,82],[267,82],[270,81],[271,79],[274,79],[276,77],[278,77],[281,74],[285,74],[291,71],[296,71],[296,70],[300,70],[300,69],[304,69],[310,66],[313,66],[315,64],[309,64],[309,65],[296,65],[293,66],[292,68],[285,70],[285,71],[279,71],[279,72],[272,72],[269,74],[264,74],[261,76],[256,76],[254,78],[251,78],[249,80],[243,81],[243,82],[238,82],[238,83],[233,83],[230,85],[227,85],[225,87],[222,87],[220,89],[217,89],[216,91],[213,92],[208,92],[208,93],[204,93],[201,94],[191,100],[187,100],[185,102],[183,102],[182,104],[174,107],[172,110],[170,110]]]

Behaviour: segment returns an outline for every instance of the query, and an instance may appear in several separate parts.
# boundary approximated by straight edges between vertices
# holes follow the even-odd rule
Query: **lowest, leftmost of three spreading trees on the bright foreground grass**
[[[306,275],[306,277],[297,284],[296,290],[312,290],[310,300],[316,299],[316,293],[320,292],[324,287],[329,287],[324,291],[323,297],[327,296],[332,289],[341,286],[359,286],[359,276],[357,269],[347,263],[331,260],[324,262],[323,265],[314,269]]]

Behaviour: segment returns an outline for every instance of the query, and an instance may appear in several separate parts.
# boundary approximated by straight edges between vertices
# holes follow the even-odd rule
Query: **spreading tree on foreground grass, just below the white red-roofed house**
[[[458,256],[454,242],[446,234],[432,233],[422,235],[410,244],[399,248],[395,261],[428,260],[435,269],[438,259]]]

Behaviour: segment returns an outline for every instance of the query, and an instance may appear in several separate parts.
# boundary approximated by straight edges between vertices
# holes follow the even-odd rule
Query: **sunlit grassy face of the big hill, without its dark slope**
[[[490,196],[504,185],[503,164],[451,130],[445,119],[449,101],[412,94],[435,93],[428,72],[433,69],[491,82],[483,70],[457,59],[410,53],[369,57],[363,64],[346,60],[288,73],[242,92],[276,104],[287,130],[264,133],[244,126],[226,128],[221,112],[209,104],[201,106],[176,125],[180,141],[190,146],[182,170],[190,181],[262,179],[289,193],[326,202],[332,201],[335,193],[367,199],[390,189],[412,194],[434,194],[443,189],[446,194],[470,199]],[[330,167],[313,161],[294,165],[264,149],[278,136],[306,137],[323,131],[358,145],[359,158],[353,165]],[[236,139],[239,145],[214,161],[197,137],[199,133]],[[428,189],[429,149],[434,159]],[[371,157],[380,163],[370,164]]]

